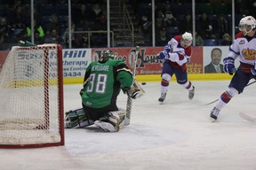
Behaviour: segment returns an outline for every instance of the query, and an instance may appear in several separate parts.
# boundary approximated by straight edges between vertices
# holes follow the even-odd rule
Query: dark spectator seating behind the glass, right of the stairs
[[[151,1],[136,3],[132,1],[138,14],[138,18],[145,16],[150,19],[152,16]],[[231,43],[232,35],[232,4],[231,1],[209,0],[196,1],[196,45],[228,45]],[[235,26],[238,26],[240,19],[246,15],[255,15],[256,3],[252,2],[240,5],[238,1],[235,15]],[[191,1],[156,1],[156,36],[157,30],[166,31],[166,38],[170,40],[174,35],[179,35],[185,31],[192,32],[192,5]],[[189,15],[189,16],[188,16]],[[143,21],[142,21],[143,24]],[[235,32],[239,30],[235,27]],[[225,38],[230,37],[229,42]],[[156,44],[157,45],[157,44]]]

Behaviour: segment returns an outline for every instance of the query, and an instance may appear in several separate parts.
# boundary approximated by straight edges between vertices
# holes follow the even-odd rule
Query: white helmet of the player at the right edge
[[[256,28],[256,20],[252,16],[244,17],[240,20],[238,28],[240,31],[247,35]]]

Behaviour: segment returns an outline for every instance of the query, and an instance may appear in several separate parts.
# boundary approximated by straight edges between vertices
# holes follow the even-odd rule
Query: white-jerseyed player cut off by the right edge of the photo
[[[212,109],[210,118],[217,120],[220,110],[228,104],[232,97],[243,92],[251,79],[256,78],[256,20],[252,16],[244,17],[239,22],[240,32],[230,45],[228,57],[223,59],[224,71],[233,75],[228,85]],[[235,59],[239,59],[240,66],[235,68]]]

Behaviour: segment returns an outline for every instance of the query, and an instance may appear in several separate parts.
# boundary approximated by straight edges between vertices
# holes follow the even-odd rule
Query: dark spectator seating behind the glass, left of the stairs
[[[63,3],[64,2],[64,3]],[[39,0],[35,2],[35,43],[60,43],[68,48],[68,4],[67,1]],[[0,5],[0,50],[10,50],[22,40],[31,41],[30,1],[6,1]],[[105,3],[106,4],[106,3]],[[106,9],[102,0],[86,3],[72,1],[72,31],[107,30]],[[90,35],[91,47],[107,46],[107,34]],[[73,48],[88,47],[88,33],[72,35]]]

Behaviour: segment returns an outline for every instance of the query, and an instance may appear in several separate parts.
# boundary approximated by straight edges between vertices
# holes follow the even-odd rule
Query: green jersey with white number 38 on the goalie
[[[82,102],[91,108],[102,108],[116,104],[122,89],[132,87],[132,73],[124,62],[108,59],[106,63],[92,62],[84,75]]]

